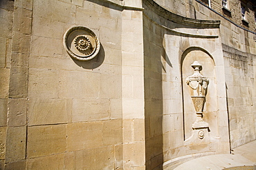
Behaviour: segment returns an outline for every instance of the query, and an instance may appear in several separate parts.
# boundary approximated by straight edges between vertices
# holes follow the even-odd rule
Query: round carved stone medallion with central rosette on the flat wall
[[[87,61],[97,56],[100,51],[100,41],[89,28],[75,26],[64,34],[66,52],[76,60]]]

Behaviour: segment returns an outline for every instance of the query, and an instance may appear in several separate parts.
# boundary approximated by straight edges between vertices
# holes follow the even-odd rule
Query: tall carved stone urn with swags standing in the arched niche
[[[202,65],[198,61],[194,61],[191,66],[194,68],[194,74],[186,78],[186,83],[190,86],[190,94],[194,104],[194,109],[196,110],[196,121],[193,123],[192,128],[208,128],[208,123],[203,121],[203,106],[205,104],[205,95],[207,93],[209,79],[200,74]]]

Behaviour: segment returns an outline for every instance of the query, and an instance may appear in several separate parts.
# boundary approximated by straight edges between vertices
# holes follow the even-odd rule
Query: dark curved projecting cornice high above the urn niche
[[[149,8],[153,8],[156,14],[169,21],[182,25],[188,25],[194,28],[219,28],[219,25],[221,23],[220,21],[199,20],[182,17],[178,14],[170,12],[162,6],[159,6],[158,3],[156,3],[154,0],[145,0],[144,4],[147,5]]]

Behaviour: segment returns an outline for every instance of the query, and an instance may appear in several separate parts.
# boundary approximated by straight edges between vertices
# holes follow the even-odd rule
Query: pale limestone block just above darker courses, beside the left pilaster
[[[68,123],[72,102],[60,98],[31,98],[28,104],[28,125]]]

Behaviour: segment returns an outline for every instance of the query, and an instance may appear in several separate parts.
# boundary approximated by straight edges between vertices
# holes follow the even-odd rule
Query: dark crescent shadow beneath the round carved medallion
[[[71,58],[73,59],[73,58]],[[73,59],[73,61],[80,67],[84,68],[84,69],[88,69],[88,70],[93,70],[97,67],[100,67],[100,65],[102,65],[102,63],[104,62],[104,59],[105,59],[105,51],[104,51],[104,47],[102,46],[102,44],[100,44],[100,52],[99,54],[89,60],[89,61],[78,61],[78,60],[75,60]]]

